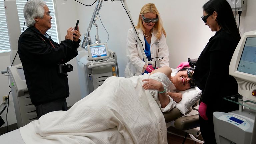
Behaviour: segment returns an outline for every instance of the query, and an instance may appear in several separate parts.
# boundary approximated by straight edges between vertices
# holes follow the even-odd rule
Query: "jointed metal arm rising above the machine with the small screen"
[[[102,1],[103,0],[97,0],[97,2],[96,2],[96,6],[95,6],[95,9],[94,9],[93,14],[92,14],[92,18],[91,18],[89,27],[87,28],[86,34],[83,35],[83,39],[82,39],[82,42],[81,42],[81,47],[82,48],[85,48],[87,45],[92,44],[91,43],[91,38],[90,38],[90,30],[92,28],[93,23],[95,23],[95,17],[99,13],[100,7],[102,5]]]

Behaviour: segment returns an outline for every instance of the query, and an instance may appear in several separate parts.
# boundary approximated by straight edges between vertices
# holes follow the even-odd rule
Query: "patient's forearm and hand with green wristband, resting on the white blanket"
[[[164,91],[163,84],[157,80],[154,79],[144,79],[142,81],[146,81],[142,87],[144,89],[156,89],[157,91]],[[161,107],[165,108],[168,103],[170,103],[169,97],[166,95],[166,93],[158,93],[158,99],[160,101]]]

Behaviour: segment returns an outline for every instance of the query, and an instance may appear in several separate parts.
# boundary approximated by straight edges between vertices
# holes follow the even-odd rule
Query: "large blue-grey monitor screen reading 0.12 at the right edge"
[[[256,38],[246,38],[237,71],[256,75]]]

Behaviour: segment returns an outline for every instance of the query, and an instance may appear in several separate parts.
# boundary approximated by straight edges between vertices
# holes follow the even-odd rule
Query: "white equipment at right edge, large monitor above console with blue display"
[[[239,104],[239,110],[213,113],[216,142],[217,144],[255,144],[256,31],[244,33],[231,59],[229,74],[238,83],[239,102],[233,101],[234,96],[224,99]]]

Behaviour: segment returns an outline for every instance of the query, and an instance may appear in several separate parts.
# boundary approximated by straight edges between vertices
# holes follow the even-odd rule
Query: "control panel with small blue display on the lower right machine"
[[[218,119],[222,120],[222,121],[226,121],[228,123],[231,123],[243,130],[247,130],[250,127],[253,127],[253,124],[250,121],[247,121],[247,120],[240,118],[238,116],[235,116],[235,115],[224,114],[224,115],[220,116]]]

